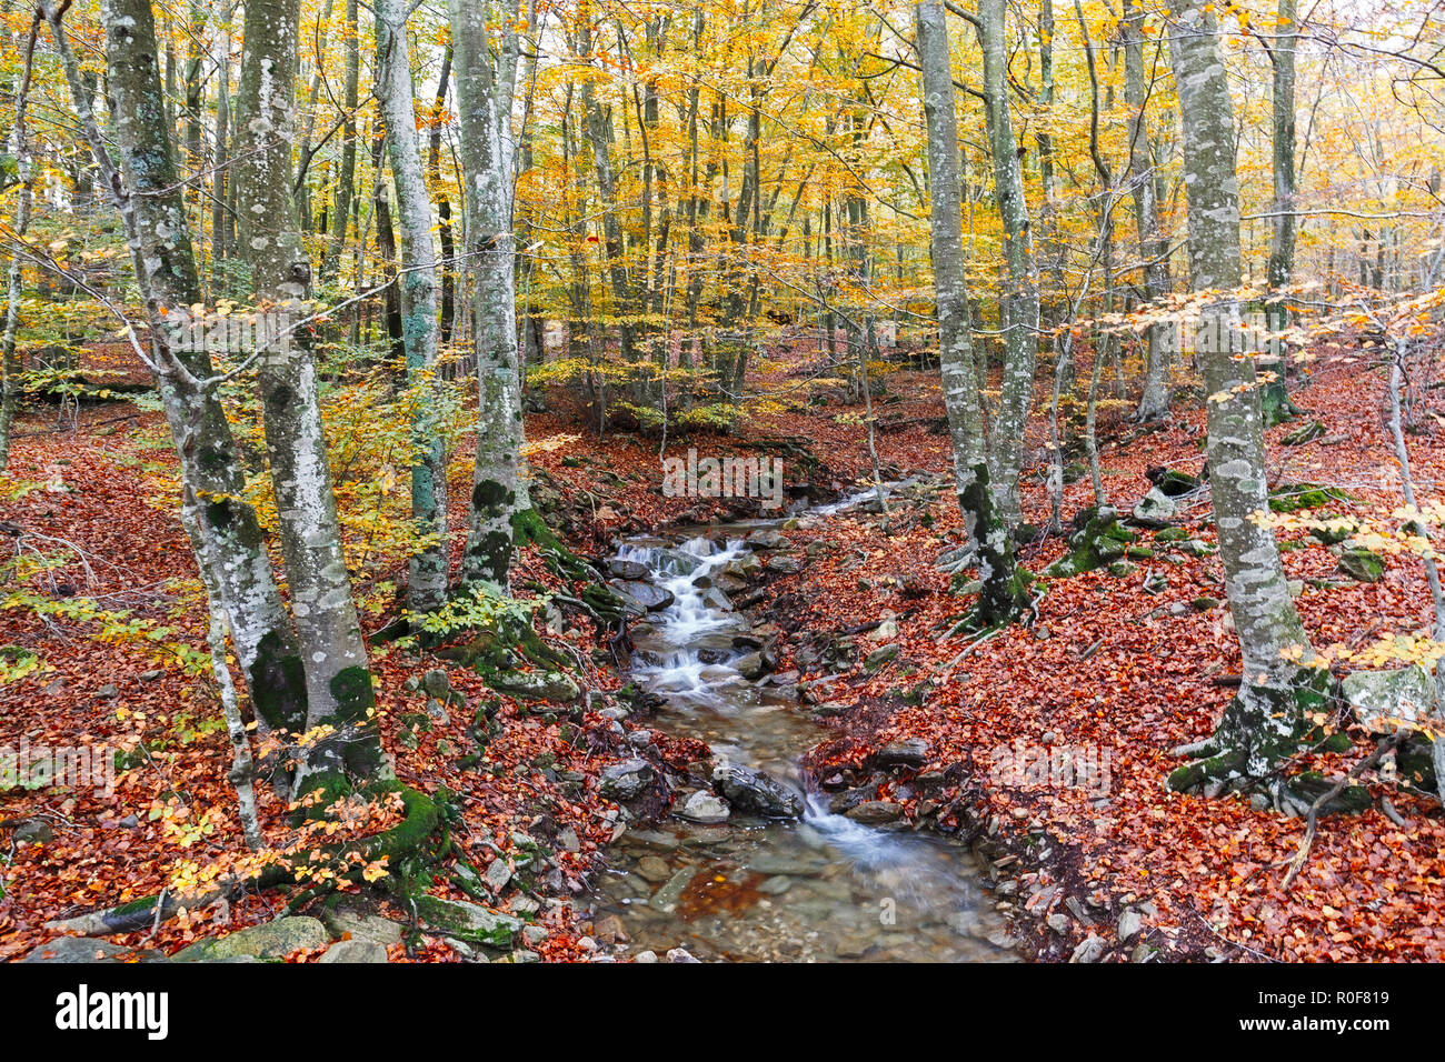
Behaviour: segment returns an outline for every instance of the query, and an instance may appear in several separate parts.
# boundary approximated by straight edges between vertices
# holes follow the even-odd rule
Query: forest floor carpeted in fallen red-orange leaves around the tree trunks
[[[806,376],[806,354],[777,358],[785,367],[770,386]],[[1426,493],[1445,481],[1445,448],[1438,445],[1442,394],[1426,392],[1426,405],[1415,410],[1433,433],[1410,436],[1415,475]],[[1354,501],[1338,511],[1396,507],[1397,471],[1383,426],[1380,376],[1347,353],[1325,351],[1296,400],[1327,433],[1302,446],[1272,445],[1272,481],[1341,487]],[[1360,815],[1325,819],[1303,873],[1285,893],[1283,864],[1299,847],[1303,822],[1247,799],[1165,790],[1163,777],[1179,763],[1169,748],[1212,730],[1231,695],[1227,676],[1238,672],[1227,608],[1204,604],[1224,597],[1215,556],[1159,549],[1124,575],[1098,571],[1049,579],[1030,626],[978,644],[949,637],[951,618],[967,600],[949,592],[949,578],[933,564],[962,540],[946,485],[949,445],[939,429],[936,371],[893,373],[874,402],[886,477],[919,481],[900,491],[887,519],[853,511],[814,530],[786,530],[799,548],[811,543],[811,549],[802,571],[767,581],[759,605],[786,633],[779,668],[798,670],[799,683],[829,679],[805,694],[805,701],[822,702],[811,709],[835,728],[835,737],[808,757],[825,787],[838,779],[866,785],[874,799],[897,803],[919,826],[977,834],[996,878],[996,902],[1013,919],[1013,941],[1035,958],[1445,957],[1445,819],[1438,802],[1367,777],[1377,795],[1393,799],[1405,825],[1383,813],[1379,802]],[[1101,439],[1104,487],[1120,509],[1130,509],[1147,490],[1149,468],[1199,471],[1204,413],[1186,405],[1181,402],[1183,412],[1166,428],[1139,433],[1120,422],[1114,441]],[[832,497],[870,474],[860,412],[861,405],[837,390],[827,405],[760,413],[731,436],[673,441],[669,454],[685,454],[689,445],[714,457],[759,448],[779,452],[782,439],[785,477],[805,480],[815,497]],[[129,610],[172,629],[166,640],[201,646],[204,607],[188,543],[175,514],[147,503],[158,496],[156,477],[169,475],[173,459],[156,445],[163,436],[159,418],[116,419],[127,413],[118,405],[91,407],[77,431],[65,432],[51,432],[48,416],[25,418],[10,475],[35,488],[9,504],[3,519],[25,530],[29,546],[66,558],[45,577],[56,598],[84,597],[105,610]],[[1273,429],[1272,442],[1289,429]],[[566,409],[530,415],[527,432],[532,441],[556,441],[532,458],[535,500],[552,510],[569,543],[585,553],[605,555],[611,539],[624,533],[756,513],[736,500],[665,497],[655,439],[627,433],[598,439]],[[1036,423],[1032,442],[1040,441]],[[1042,455],[1042,446],[1036,452]],[[454,465],[460,483],[468,477],[465,457],[460,454]],[[454,498],[460,527],[465,490],[454,491]],[[1092,501],[1084,477],[1066,490],[1065,519]],[[1033,523],[1048,522],[1039,475],[1026,477],[1025,509]],[[1208,542],[1212,529],[1205,516],[1188,513],[1185,522],[1195,539]],[[1379,582],[1358,584],[1337,575],[1337,558],[1324,546],[1298,532],[1282,538],[1286,569],[1303,581],[1298,605],[1316,646],[1358,644],[1423,626],[1429,598],[1418,562],[1389,558]],[[1153,543],[1146,536],[1142,545]],[[1023,548],[1022,559],[1038,572],[1064,551],[1061,539],[1048,539]],[[523,581],[555,582],[532,552],[520,568]],[[384,618],[367,617],[364,626],[380,629]],[[208,681],[158,665],[153,646],[131,636],[100,634],[97,623],[42,618],[25,608],[0,611],[0,646],[23,646],[49,665],[0,688],[0,747],[26,741],[139,748],[143,741],[147,750],[131,757],[134,766],[108,795],[0,793],[0,819],[43,816],[52,832],[43,844],[6,845],[3,959],[52,941],[46,920],[155,894],[184,863],[224,865],[244,851],[225,782],[228,743],[214,721]],[[444,668],[454,688],[475,704],[493,696],[477,675],[431,653],[381,649],[374,660],[383,737],[397,776],[425,790],[447,786],[460,795],[465,825],[457,839],[465,857],[478,868],[490,870],[496,861],[522,867],[536,858],[533,841],[540,841],[545,858],[540,867],[532,864],[530,892],[516,889],[516,880],[483,889],[490,906],[539,926],[526,949],[546,961],[585,959],[598,941],[605,942],[603,928],[565,900],[587,890],[605,844],[623,829],[616,805],[597,793],[597,780],[603,767],[631,754],[611,720],[595,711],[614,702],[626,676],[598,650],[585,623],[561,637],[585,662],[594,711],[568,722],[500,698],[501,730],[487,748],[491,774],[458,766],[458,751],[468,747],[470,712],[452,711],[448,721],[418,731],[409,721],[420,701],[403,685],[422,670]],[[884,642],[896,653],[867,665],[867,653]],[[825,643],[844,649],[850,662],[819,666]],[[1318,757],[1315,766],[1340,772],[1366,754],[1363,731],[1354,735],[1348,756]],[[877,751],[905,738],[923,743],[925,763],[874,770]],[[1016,743],[1107,756],[1108,783],[1101,790],[990,774],[988,756],[1022,747]],[[657,748],[678,767],[698,756],[665,737]],[[286,808],[266,792],[260,803],[267,835],[285,837]],[[455,884],[442,889],[464,899]],[[114,942],[173,952],[270,919],[283,906],[277,894],[251,893]],[[405,920],[405,912],[383,912]],[[308,961],[319,952],[302,949],[288,958]],[[393,961],[457,958],[441,936],[426,936],[410,949],[393,944],[389,952]]]

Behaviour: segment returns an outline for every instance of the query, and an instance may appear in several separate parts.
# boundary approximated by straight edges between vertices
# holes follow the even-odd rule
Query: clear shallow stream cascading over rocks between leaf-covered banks
[[[795,702],[738,673],[733,663],[747,650],[733,639],[749,623],[709,590],[712,577],[747,552],[741,538],[727,536],[766,526],[718,527],[675,545],[639,539],[620,549],[675,598],[634,629],[633,679],[663,699],[655,728],[707,741],[720,760],[802,792],[798,759],[828,733]],[[798,822],[734,812],[721,825],[668,818],[634,826],[611,848],[598,918],[621,919],[630,954],[683,946],[698,958],[737,961],[1012,958],[988,944],[1003,920],[965,848],[832,815],[816,793],[805,793],[805,802]]]

